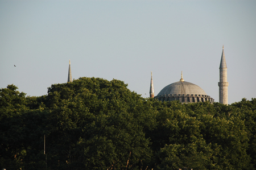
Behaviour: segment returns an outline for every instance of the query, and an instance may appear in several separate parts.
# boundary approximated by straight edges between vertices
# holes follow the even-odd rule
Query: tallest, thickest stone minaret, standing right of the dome
[[[219,86],[219,102],[228,105],[228,86],[229,82],[227,80],[227,67],[226,67],[226,59],[224,54],[224,45],[222,46],[222,55],[221,55],[221,63],[220,63],[220,82],[218,82]]]

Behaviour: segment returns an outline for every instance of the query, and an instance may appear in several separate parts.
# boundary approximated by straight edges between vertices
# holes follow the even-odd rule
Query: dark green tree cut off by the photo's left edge
[[[0,90],[0,167],[23,167],[22,159],[26,155],[23,143],[20,115],[28,110],[25,93],[19,93],[15,85]]]

